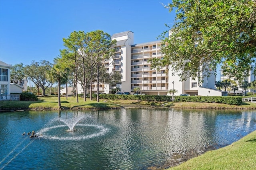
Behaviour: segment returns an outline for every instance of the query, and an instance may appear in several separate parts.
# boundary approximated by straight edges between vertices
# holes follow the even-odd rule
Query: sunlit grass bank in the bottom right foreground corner
[[[256,131],[226,147],[208,151],[168,170],[254,170]]]

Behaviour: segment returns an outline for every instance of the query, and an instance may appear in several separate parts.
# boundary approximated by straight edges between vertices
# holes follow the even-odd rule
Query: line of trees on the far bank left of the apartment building
[[[78,102],[78,83],[84,90],[84,101],[86,101],[86,89],[93,83],[97,84],[97,102],[99,102],[99,84],[111,84],[121,81],[119,72],[108,72],[109,60],[114,55],[116,40],[112,40],[108,33],[101,30],[85,33],[74,31],[67,38],[63,38],[64,49],[60,55],[49,61],[32,61],[30,65],[23,63],[15,64],[11,69],[11,80],[17,82],[27,77],[35,84],[37,92],[42,90],[42,96],[46,90],[52,93],[58,84],[58,97],[60,105],[60,88],[63,85],[74,88],[74,96]],[[31,87],[30,87],[31,90]],[[55,91],[56,92],[56,91]],[[90,88],[90,100],[92,100],[92,88]]]

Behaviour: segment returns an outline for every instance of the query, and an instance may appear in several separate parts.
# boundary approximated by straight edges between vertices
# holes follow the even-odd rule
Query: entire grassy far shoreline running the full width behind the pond
[[[189,108],[189,109],[256,109],[256,103],[243,102],[242,105],[227,105],[218,103],[192,103],[192,102],[148,102],[139,100],[106,100],[101,99],[84,102],[84,98],[61,97],[62,109],[119,109],[126,107],[163,107],[163,108]],[[130,106],[128,106],[130,105]],[[58,109],[58,98],[56,96],[38,97],[38,101],[0,101],[0,110],[21,110],[21,109]]]

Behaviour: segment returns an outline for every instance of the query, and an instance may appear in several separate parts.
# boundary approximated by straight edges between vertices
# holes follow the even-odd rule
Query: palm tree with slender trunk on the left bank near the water
[[[58,82],[58,107],[61,108],[60,103],[60,85],[68,80],[68,68],[62,66],[60,63],[54,64],[51,70],[47,72],[48,78],[52,82]]]

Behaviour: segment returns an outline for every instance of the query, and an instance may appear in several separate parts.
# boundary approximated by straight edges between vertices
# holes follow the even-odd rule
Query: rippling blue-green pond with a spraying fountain
[[[0,128],[0,169],[146,170],[230,145],[256,130],[256,111],[16,111]]]

